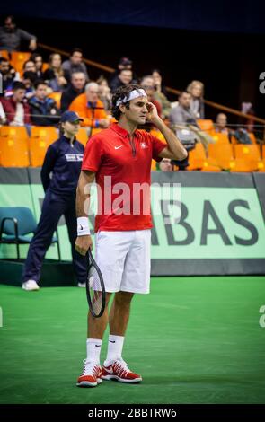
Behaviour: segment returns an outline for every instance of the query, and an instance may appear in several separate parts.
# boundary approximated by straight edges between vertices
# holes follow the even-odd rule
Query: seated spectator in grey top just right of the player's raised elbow
[[[207,133],[199,129],[196,116],[190,109],[190,92],[183,91],[179,95],[179,103],[172,109],[170,114],[170,123],[173,129],[185,129],[187,127],[195,134],[198,142],[201,142],[208,152],[208,144],[213,144],[214,139]]]

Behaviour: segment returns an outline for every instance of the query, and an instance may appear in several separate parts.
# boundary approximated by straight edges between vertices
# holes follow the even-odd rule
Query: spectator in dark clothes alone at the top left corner
[[[29,32],[16,27],[13,16],[6,16],[4,26],[0,27],[0,49],[7,51],[20,51],[22,41],[30,41],[29,49],[37,48],[37,39]]]

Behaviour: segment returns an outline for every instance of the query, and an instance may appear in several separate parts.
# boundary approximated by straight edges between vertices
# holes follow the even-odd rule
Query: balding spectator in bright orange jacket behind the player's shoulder
[[[102,127],[102,129],[109,127],[109,119],[98,95],[99,85],[90,82],[86,84],[85,92],[78,95],[70,105],[69,110],[75,111],[80,118],[84,119],[82,126]]]

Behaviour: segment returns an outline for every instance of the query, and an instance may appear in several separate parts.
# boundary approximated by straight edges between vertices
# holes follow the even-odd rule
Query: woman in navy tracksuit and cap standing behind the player
[[[60,119],[61,135],[49,145],[40,172],[45,191],[40,222],[34,233],[22,272],[22,288],[39,290],[42,261],[48,250],[57,224],[65,215],[72,246],[73,265],[78,286],[85,286],[85,258],[75,251],[76,217],[75,191],[84,156],[84,146],[75,136],[82,119],[74,111],[66,111]],[[50,173],[52,172],[52,178]]]

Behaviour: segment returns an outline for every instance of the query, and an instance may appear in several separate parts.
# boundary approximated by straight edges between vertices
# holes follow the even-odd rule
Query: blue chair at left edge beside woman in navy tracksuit
[[[33,236],[29,234],[35,233],[36,228],[37,223],[30,208],[0,207],[0,244],[15,244],[17,259],[20,259],[19,245],[31,243]],[[51,242],[57,243],[58,260],[61,260],[58,234]]]

